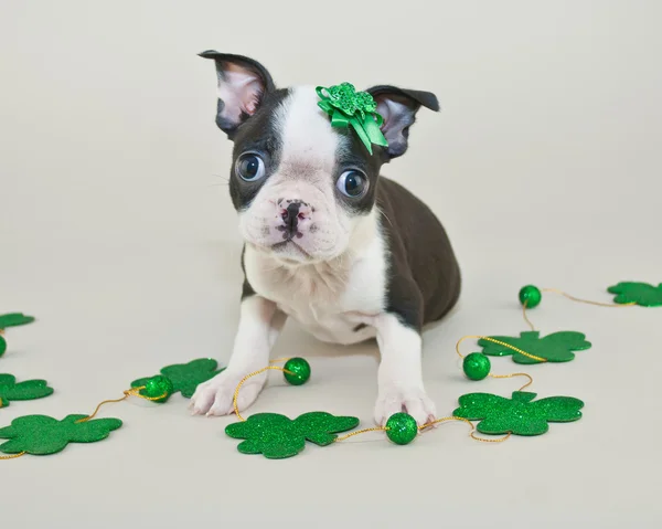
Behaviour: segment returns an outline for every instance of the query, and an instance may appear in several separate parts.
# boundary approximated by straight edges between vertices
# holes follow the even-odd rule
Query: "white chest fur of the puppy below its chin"
[[[258,295],[318,339],[348,345],[375,336],[370,320],[384,310],[387,272],[380,234],[361,250],[311,265],[289,266],[247,246],[244,266]],[[355,330],[360,324],[367,326]]]

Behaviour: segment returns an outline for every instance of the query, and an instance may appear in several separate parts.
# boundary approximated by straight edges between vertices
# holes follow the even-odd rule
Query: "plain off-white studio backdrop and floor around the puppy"
[[[39,322],[9,331],[0,371],[56,393],[1,410],[1,424],[89,413],[169,363],[226,361],[241,241],[206,49],[253,56],[280,85],[437,93],[442,112],[420,112],[409,152],[384,169],[439,215],[465,275],[458,309],[425,337],[427,390],[440,414],[463,393],[508,395],[516,381],[463,379],[453,346],[525,330],[522,285],[609,301],[619,281],[662,282],[661,19],[655,0],[3,0],[0,311]],[[130,401],[104,409],[125,421],[106,442],[1,462],[2,520],[660,527],[662,309],[547,296],[531,317],[594,342],[527,368],[542,396],[586,401],[581,421],[542,437],[481,444],[458,423],[407,447],[374,434],[267,461],[236,452],[232,419],[191,417],[179,395]],[[374,345],[323,346],[289,325],[284,355],[307,357],[313,378],[291,388],[274,374],[250,412],[372,424]]]

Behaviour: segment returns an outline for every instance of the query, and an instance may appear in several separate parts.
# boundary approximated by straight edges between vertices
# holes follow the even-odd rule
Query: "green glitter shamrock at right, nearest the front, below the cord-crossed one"
[[[480,421],[477,430],[483,434],[541,435],[549,430],[548,422],[565,423],[581,419],[584,402],[572,396],[548,396],[534,401],[536,394],[514,391],[512,399],[491,393],[469,393],[460,396],[456,417]]]

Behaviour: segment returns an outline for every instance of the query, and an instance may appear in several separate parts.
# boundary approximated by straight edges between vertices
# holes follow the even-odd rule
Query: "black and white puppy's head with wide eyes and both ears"
[[[361,244],[380,168],[407,150],[434,94],[394,86],[366,92],[388,147],[371,155],[354,130],[331,126],[314,87],[277,89],[258,62],[207,51],[218,80],[216,124],[234,141],[229,194],[246,243],[288,264],[330,261]]]

